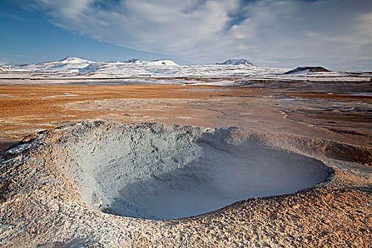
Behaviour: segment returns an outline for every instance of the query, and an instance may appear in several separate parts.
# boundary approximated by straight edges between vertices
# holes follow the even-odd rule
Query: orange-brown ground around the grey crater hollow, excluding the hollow
[[[367,81],[269,81],[259,86],[2,85],[0,244],[371,247],[371,92]],[[52,155],[50,164],[39,165],[43,169],[30,169],[37,166],[22,162],[27,152],[18,154],[16,145],[38,140],[38,135],[21,142],[23,137],[93,120],[252,128],[270,133],[266,138],[275,144],[298,137],[297,143],[291,138],[288,150],[319,159],[334,172],[327,181],[296,193],[249,198],[210,213],[172,220],[102,213],[86,205],[76,193],[79,190],[66,186],[62,179],[58,185],[47,176],[44,185],[22,181],[22,177],[33,179],[38,171],[59,173],[55,170],[58,158]],[[9,147],[14,148],[5,152]],[[46,159],[44,152],[40,157]]]

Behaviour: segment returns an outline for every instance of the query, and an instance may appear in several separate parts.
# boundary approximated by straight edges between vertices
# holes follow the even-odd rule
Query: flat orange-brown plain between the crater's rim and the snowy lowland
[[[339,103],[368,109],[372,98],[178,84],[0,86],[0,151],[30,133],[81,120],[244,126],[371,146],[372,113],[332,108]]]

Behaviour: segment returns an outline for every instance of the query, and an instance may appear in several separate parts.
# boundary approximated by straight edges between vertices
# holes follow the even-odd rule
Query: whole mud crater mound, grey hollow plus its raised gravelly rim
[[[5,234],[11,230],[13,236],[6,238],[15,244],[27,239],[45,247],[161,247],[164,240],[204,247],[234,234],[249,242],[238,235],[250,232],[266,242],[283,228],[298,235],[304,231],[296,225],[311,222],[302,211],[310,218],[319,210],[316,204],[337,208],[347,197],[366,198],[363,191],[346,198],[332,194],[352,191],[340,189],[336,172],[342,162],[332,162],[354,159],[344,150],[360,154],[359,159],[371,154],[361,147],[249,128],[62,126],[30,135],[4,154],[1,216],[18,222],[2,228]],[[38,233],[42,242],[35,238]],[[277,240],[284,246],[289,242]]]

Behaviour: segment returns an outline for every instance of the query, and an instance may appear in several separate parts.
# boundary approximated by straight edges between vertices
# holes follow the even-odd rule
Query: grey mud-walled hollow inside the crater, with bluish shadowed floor
[[[317,159],[236,130],[159,123],[77,129],[69,146],[81,195],[105,213],[159,220],[294,193],[329,176]]]

